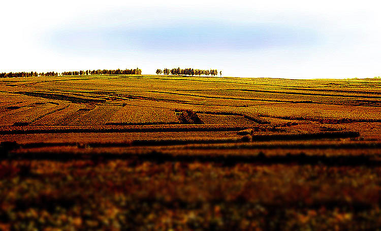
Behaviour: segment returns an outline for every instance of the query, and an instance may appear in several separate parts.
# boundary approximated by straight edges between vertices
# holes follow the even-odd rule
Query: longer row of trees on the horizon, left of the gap
[[[13,77],[38,77],[38,76],[75,76],[75,75],[141,75],[142,70],[125,69],[125,70],[86,70],[86,71],[69,71],[69,72],[9,72],[0,73],[0,78],[13,78]]]

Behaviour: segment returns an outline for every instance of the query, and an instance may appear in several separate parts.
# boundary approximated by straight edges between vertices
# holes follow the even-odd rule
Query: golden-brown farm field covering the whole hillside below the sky
[[[381,230],[381,81],[0,80],[0,230]]]

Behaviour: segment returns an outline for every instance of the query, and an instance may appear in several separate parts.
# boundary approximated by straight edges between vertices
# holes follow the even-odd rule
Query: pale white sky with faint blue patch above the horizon
[[[223,76],[381,76],[376,1],[6,1],[0,72],[217,69]]]

